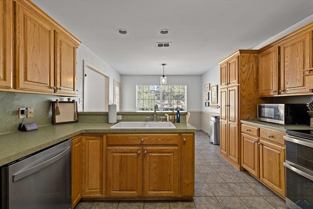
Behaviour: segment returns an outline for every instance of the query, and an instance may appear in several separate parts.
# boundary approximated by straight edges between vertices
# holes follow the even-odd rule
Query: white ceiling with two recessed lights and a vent
[[[33,2],[121,75],[161,75],[163,63],[165,75],[201,75],[313,14],[313,0]]]

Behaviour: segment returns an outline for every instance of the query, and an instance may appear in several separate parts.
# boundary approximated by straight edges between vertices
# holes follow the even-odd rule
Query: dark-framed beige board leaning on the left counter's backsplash
[[[52,101],[51,103],[53,125],[78,122],[76,101]],[[57,109],[59,109],[59,111],[57,111]]]

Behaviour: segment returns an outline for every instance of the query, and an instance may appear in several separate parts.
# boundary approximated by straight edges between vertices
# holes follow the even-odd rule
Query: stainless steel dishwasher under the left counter
[[[1,167],[2,209],[70,209],[71,141]]]

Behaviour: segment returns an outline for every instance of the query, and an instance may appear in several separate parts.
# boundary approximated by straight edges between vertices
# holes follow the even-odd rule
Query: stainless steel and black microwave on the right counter
[[[258,104],[258,120],[282,125],[308,125],[306,104]]]

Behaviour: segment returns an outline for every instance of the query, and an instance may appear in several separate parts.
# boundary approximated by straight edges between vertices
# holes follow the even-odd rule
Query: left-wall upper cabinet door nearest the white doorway
[[[55,31],[56,93],[76,94],[76,48],[74,42]]]

